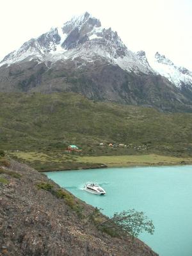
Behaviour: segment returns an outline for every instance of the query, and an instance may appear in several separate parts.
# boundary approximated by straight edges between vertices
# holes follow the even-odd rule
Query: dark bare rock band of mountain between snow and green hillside
[[[51,67],[29,61],[1,67],[1,92],[76,92],[88,99],[153,106],[163,111],[191,111],[191,88],[182,92],[164,77],[128,73],[103,60],[58,61]],[[8,79],[7,79],[8,77]]]

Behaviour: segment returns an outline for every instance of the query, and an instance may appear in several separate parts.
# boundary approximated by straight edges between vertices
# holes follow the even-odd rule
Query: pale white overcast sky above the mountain
[[[157,51],[192,71],[191,0],[2,0],[0,60],[27,40],[89,12],[131,51]]]

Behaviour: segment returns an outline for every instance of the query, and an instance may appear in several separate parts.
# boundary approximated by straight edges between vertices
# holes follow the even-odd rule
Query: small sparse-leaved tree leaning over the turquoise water
[[[132,237],[138,237],[143,231],[149,234],[154,234],[154,224],[152,220],[148,220],[144,212],[138,212],[135,209],[128,211],[115,212],[113,217],[99,224],[99,226],[106,228],[115,228],[116,230],[124,230]]]

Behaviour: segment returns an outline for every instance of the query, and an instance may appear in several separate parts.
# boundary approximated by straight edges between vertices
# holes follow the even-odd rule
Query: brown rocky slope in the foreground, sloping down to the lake
[[[24,164],[0,161],[0,205],[0,255],[157,255],[98,230],[93,207]]]

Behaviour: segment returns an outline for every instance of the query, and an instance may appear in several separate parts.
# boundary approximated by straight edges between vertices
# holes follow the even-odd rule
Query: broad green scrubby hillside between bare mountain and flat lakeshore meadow
[[[21,159],[33,152],[35,159],[46,162],[46,155],[52,161],[69,144],[83,148],[80,156],[192,156],[190,113],[93,102],[74,93],[0,93],[0,99],[1,148]],[[100,142],[128,147],[99,147]],[[32,155],[29,161],[35,161]]]

